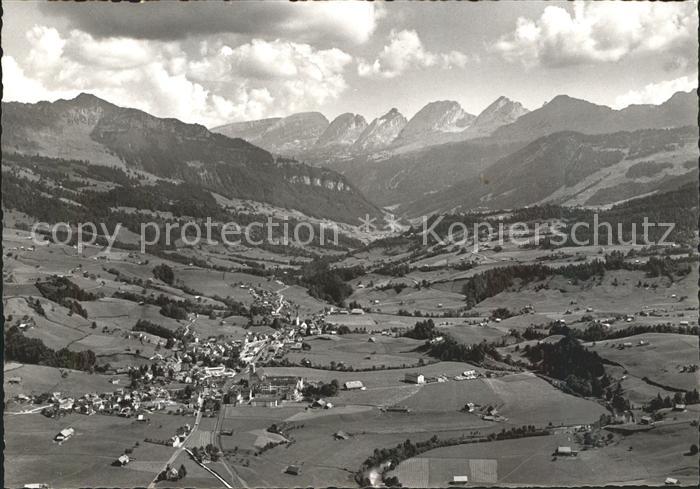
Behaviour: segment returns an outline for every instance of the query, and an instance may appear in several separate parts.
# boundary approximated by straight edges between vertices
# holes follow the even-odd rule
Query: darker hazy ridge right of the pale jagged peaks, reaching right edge
[[[559,95],[512,124],[496,129],[492,137],[533,141],[559,131],[606,134],[682,127],[697,124],[697,112],[695,92],[678,92],[661,105],[631,105],[621,110]]]

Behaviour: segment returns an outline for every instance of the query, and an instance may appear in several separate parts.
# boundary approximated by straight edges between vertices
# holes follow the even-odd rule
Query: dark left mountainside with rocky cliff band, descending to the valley
[[[2,149],[134,168],[236,197],[356,223],[378,209],[337,173],[275,158],[198,124],[160,119],[81,94],[3,103]]]

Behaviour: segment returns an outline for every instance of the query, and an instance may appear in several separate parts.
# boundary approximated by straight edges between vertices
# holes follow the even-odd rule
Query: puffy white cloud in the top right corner
[[[635,54],[682,53],[694,57],[695,4],[580,2],[573,15],[548,6],[541,17],[520,17],[493,49],[508,61],[550,67],[615,62]]]

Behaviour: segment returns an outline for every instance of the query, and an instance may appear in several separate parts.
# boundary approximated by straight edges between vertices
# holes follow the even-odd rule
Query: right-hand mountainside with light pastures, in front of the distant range
[[[615,203],[673,189],[694,178],[697,139],[698,128],[693,126],[602,135],[558,132],[501,158],[480,175],[402,210],[420,215],[543,202]]]

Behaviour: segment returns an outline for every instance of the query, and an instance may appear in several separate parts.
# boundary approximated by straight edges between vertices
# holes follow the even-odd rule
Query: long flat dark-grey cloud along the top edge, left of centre
[[[95,37],[177,40],[208,34],[293,37],[297,41],[366,42],[384,15],[373,2],[143,2],[139,5],[48,2],[61,16]]]

